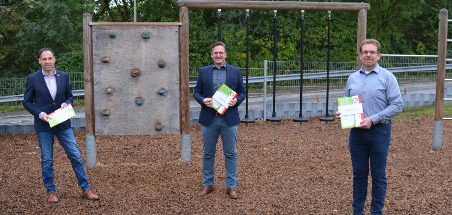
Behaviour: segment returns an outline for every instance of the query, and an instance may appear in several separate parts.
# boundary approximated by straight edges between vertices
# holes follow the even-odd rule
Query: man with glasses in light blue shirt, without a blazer
[[[402,111],[402,98],[395,76],[378,65],[380,43],[366,39],[360,44],[363,67],[347,81],[344,96],[361,95],[364,120],[350,130],[348,145],[353,168],[353,214],[363,215],[367,177],[372,177],[371,215],[381,215],[386,195],[386,163],[391,143],[391,118]],[[336,112],[340,119],[340,112]]]

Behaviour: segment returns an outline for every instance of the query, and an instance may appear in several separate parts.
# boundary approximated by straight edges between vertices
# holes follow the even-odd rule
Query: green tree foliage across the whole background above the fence
[[[316,0],[311,0],[316,1]],[[366,2],[367,38],[382,44],[384,54],[437,54],[438,14],[452,10],[452,0],[335,0]],[[179,22],[176,0],[137,0],[138,22]],[[39,69],[37,51],[54,49],[57,68],[83,71],[84,13],[93,22],[133,22],[133,0],[3,0],[0,1],[0,78],[23,78]],[[223,10],[222,40],[230,64],[246,66],[246,16]],[[300,11],[277,12],[277,60],[299,61]],[[211,45],[218,40],[217,10],[189,10],[190,67],[212,63]],[[273,60],[272,10],[251,10],[249,66]],[[355,61],[357,13],[331,13],[331,61]],[[326,61],[328,14],[305,12],[305,61]],[[452,46],[449,46],[452,50]]]

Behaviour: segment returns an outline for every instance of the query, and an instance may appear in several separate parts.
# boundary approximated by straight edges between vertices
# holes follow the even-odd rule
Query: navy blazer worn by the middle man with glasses
[[[240,116],[238,111],[238,106],[245,100],[246,98],[246,89],[243,84],[242,73],[240,72],[240,68],[225,64],[226,67],[226,85],[234,90],[237,95],[237,103],[235,106],[227,108],[225,112],[225,117],[227,123],[230,126],[238,125],[240,123]],[[201,67],[199,69],[198,81],[196,82],[196,86],[193,92],[193,97],[196,101],[201,105],[201,112],[199,114],[199,124],[208,126],[210,120],[212,119],[212,115],[214,108],[208,108],[202,102],[205,98],[212,98],[215,93],[213,89],[213,81],[212,81],[212,71],[213,64]]]

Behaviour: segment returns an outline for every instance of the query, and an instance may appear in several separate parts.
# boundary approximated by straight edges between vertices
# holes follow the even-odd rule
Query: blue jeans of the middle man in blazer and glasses
[[[225,153],[226,188],[237,188],[237,125],[229,126],[224,116],[213,116],[208,126],[201,127],[202,145],[202,174],[204,186],[214,185],[215,151],[218,136],[223,140]]]

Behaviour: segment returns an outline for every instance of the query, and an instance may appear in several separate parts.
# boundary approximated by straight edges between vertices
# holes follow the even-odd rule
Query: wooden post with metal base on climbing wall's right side
[[[181,134],[181,159],[191,161],[191,136],[190,136],[190,94],[189,94],[189,47],[188,47],[188,8],[179,9],[180,39],[179,39],[179,86],[180,86],[180,134]]]

